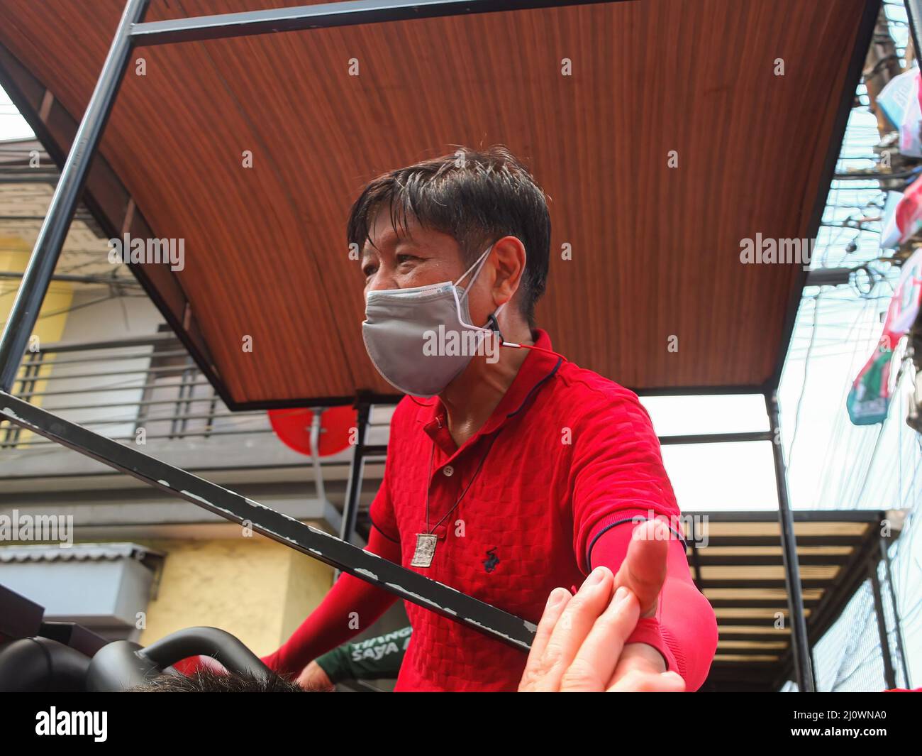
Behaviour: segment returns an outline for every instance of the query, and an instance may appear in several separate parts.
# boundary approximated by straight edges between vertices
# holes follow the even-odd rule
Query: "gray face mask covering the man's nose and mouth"
[[[489,246],[455,283],[368,293],[361,336],[372,363],[395,389],[413,396],[435,396],[475,354],[487,355],[488,361],[495,354],[498,359],[499,338],[489,328],[472,325],[467,309],[467,292],[492,248]],[[467,287],[459,289],[457,284],[475,268]],[[499,306],[492,317],[496,318],[504,306]]]

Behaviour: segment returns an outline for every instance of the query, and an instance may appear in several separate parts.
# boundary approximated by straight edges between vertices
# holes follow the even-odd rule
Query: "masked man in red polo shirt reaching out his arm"
[[[553,352],[535,326],[550,216],[526,168],[492,148],[383,174],[353,206],[348,236],[361,249],[366,348],[408,394],[368,550],[535,623],[555,588],[609,586],[610,570],[640,618],[607,688],[675,690],[671,671],[697,690],[715,615],[691,581],[659,443],[632,391]],[[657,518],[670,527],[638,524]],[[395,600],[343,575],[264,661],[296,676]],[[529,690],[526,654],[406,607],[396,690]]]

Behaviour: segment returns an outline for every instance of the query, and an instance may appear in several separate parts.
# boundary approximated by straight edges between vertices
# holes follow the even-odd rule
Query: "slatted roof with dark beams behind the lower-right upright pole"
[[[812,644],[867,580],[869,558],[880,558],[880,523],[901,515],[880,510],[792,514]],[[702,690],[778,690],[793,674],[778,513],[696,511],[686,516],[693,518],[686,522],[692,576],[717,618],[717,651]]]

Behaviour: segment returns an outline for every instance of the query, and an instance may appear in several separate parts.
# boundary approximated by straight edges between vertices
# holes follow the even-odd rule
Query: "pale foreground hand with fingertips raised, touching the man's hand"
[[[641,607],[623,585],[612,596],[615,587],[611,570],[598,567],[576,595],[565,588],[551,592],[520,692],[685,690],[678,674],[663,671],[666,665],[655,648],[625,646]]]

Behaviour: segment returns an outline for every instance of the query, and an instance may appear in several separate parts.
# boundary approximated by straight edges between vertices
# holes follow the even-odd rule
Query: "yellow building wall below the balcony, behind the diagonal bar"
[[[333,583],[332,568],[258,535],[137,543],[167,555],[141,645],[207,625],[227,630],[257,655],[271,654]]]

